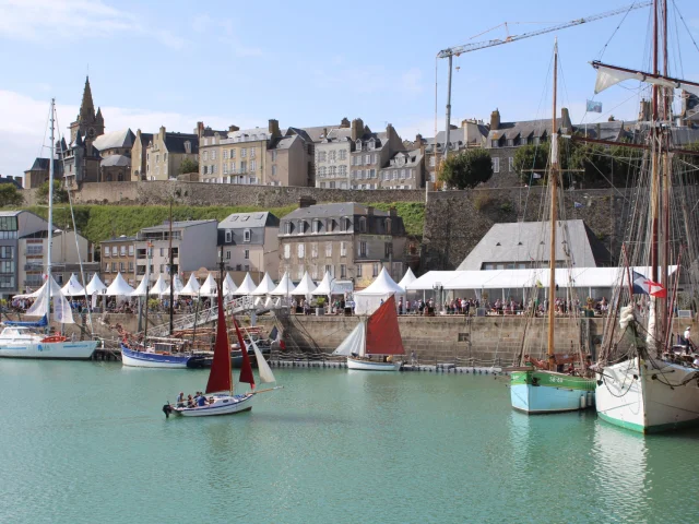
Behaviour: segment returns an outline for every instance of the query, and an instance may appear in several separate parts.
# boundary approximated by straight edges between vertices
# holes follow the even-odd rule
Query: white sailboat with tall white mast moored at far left
[[[14,358],[54,358],[69,360],[86,360],[97,347],[97,341],[71,341],[62,335],[50,335],[48,332],[51,310],[54,320],[61,324],[74,323],[69,301],[60,286],[51,276],[51,242],[54,237],[54,156],[56,142],[54,139],[55,100],[51,99],[51,154],[48,179],[48,233],[46,283],[36,293],[36,301],[26,311],[27,317],[39,317],[36,322],[5,321],[0,333],[0,357]],[[51,308],[51,303],[54,307]]]

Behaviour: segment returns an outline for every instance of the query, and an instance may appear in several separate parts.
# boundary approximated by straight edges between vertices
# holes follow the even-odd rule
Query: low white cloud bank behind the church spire
[[[48,115],[50,100],[37,100],[26,95],[0,90],[0,174],[21,176],[32,166],[37,156],[49,154],[50,141]],[[57,105],[57,140],[69,133],[68,126],[78,115],[79,107]],[[149,111],[137,108],[103,107],[102,112],[107,126],[106,131],[131,128],[143,132],[156,133],[161,126],[168,131],[191,133],[198,121],[213,129],[228,129],[235,123],[240,128],[253,128],[253,119],[244,115],[230,117],[194,116],[173,111]]]

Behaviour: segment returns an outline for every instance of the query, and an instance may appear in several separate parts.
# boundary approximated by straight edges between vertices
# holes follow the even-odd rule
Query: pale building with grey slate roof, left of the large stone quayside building
[[[269,273],[277,278],[280,219],[272,213],[234,213],[218,224],[227,271]]]

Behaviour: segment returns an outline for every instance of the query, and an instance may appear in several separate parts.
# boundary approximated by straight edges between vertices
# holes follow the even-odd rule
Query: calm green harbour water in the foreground
[[[205,371],[1,360],[0,523],[699,522],[698,432],[526,417],[486,376],[275,373],[166,420]]]

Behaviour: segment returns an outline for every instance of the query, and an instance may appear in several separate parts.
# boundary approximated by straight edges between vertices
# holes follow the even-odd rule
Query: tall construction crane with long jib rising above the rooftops
[[[513,35],[510,36],[509,32],[508,32],[508,36],[505,39],[491,39],[491,40],[485,40],[485,41],[475,41],[473,44],[464,44],[463,46],[457,46],[457,47],[449,47],[447,49],[443,49],[441,51],[439,51],[437,53],[437,58],[448,58],[449,59],[449,80],[448,80],[448,87],[447,87],[447,132],[446,132],[446,141],[445,141],[445,159],[447,159],[447,155],[449,154],[449,124],[451,123],[451,69],[452,69],[452,59],[453,57],[459,57],[460,55],[464,53],[464,52],[473,52],[473,51],[477,51],[479,49],[485,49],[488,47],[495,47],[495,46],[501,46],[503,44],[510,44],[512,41],[518,41],[518,40],[523,40],[524,38],[531,38],[533,36],[538,36],[538,35],[545,35],[546,33],[553,33],[554,31],[559,31],[559,29],[565,29],[568,27],[574,27],[577,25],[582,25],[582,24],[587,24],[590,22],[596,22],[597,20],[602,20],[602,19],[607,19],[609,16],[615,16],[617,14],[624,14],[624,13],[628,13],[630,11],[633,11],[636,9],[642,9],[642,8],[648,8],[649,5],[651,5],[653,2],[651,1],[645,1],[645,2],[635,2],[631,5],[627,5],[626,8],[623,9],[615,9],[614,11],[606,11],[604,13],[600,13],[600,14],[593,14],[592,16],[587,16],[584,19],[577,19],[577,20],[571,20],[570,22],[566,22],[562,24],[558,24],[558,25],[553,25],[550,27],[544,27],[543,29],[537,29],[537,31],[532,31],[529,33],[522,33],[521,35]],[[507,29],[507,22],[505,24],[506,29]],[[498,26],[500,27],[500,26]],[[435,144],[437,141],[437,136],[435,136]],[[437,152],[436,147],[435,147],[435,152]]]

